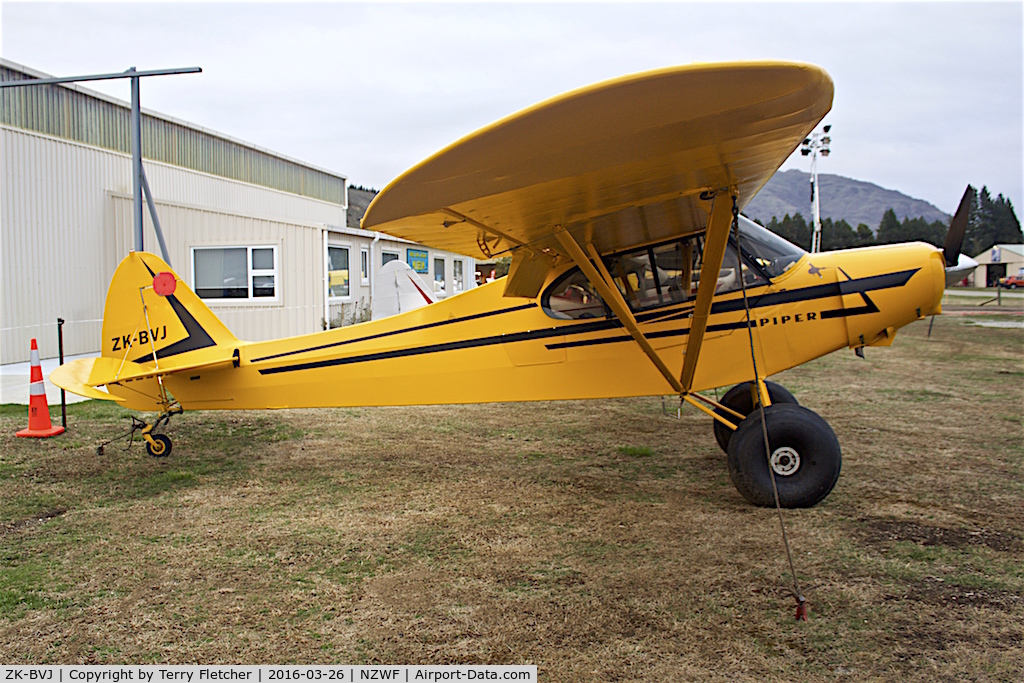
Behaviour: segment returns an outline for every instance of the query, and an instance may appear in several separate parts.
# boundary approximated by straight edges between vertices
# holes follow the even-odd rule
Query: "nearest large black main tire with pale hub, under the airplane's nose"
[[[765,409],[775,483],[783,508],[810,508],[839,480],[843,454],[828,423],[803,405],[772,403]],[[765,455],[760,412],[751,414],[729,440],[729,477],[754,505],[775,505],[769,457]]]

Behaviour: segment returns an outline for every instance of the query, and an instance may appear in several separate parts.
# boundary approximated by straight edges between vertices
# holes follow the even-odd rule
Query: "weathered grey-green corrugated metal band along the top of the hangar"
[[[0,80],[50,78],[0,58]],[[131,105],[76,83],[0,88],[0,123],[131,154]],[[142,157],[346,206],[345,177],[142,110]]]

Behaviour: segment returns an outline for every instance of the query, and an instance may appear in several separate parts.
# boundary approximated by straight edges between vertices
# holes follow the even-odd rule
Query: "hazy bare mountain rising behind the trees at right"
[[[928,222],[949,221],[948,214],[928,202],[871,182],[818,173],[818,186],[821,191],[821,217],[834,221],[845,219],[855,229],[858,223],[866,223],[872,231],[877,231],[882,214],[887,209],[895,211],[900,220],[924,217]],[[796,169],[776,173],[746,205],[743,213],[761,223],[767,223],[773,216],[781,220],[785,214],[792,216],[796,213],[810,222],[813,215],[811,174]]]

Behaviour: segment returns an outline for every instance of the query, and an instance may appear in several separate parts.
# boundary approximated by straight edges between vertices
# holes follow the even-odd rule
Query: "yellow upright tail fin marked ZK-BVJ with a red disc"
[[[154,362],[239,343],[159,257],[132,252],[114,272],[103,309],[103,357]]]

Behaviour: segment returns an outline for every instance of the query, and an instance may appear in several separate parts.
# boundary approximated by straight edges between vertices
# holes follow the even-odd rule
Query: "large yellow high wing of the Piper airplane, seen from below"
[[[567,229],[599,253],[706,229],[708,193],[740,209],[831,106],[818,67],[675,67],[599,83],[472,133],[386,186],[362,219],[437,249],[514,250],[506,296],[536,296]],[[701,197],[703,195],[703,198]]]

